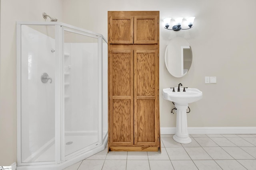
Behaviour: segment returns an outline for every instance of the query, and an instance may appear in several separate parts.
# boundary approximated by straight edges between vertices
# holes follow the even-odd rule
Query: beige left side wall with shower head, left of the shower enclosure
[[[62,0],[1,0],[0,12],[0,165],[8,166],[16,161],[16,21],[45,21],[43,12],[62,21]]]

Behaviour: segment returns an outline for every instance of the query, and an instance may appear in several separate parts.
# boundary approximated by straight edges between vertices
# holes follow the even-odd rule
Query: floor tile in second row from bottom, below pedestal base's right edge
[[[212,159],[202,147],[186,147],[184,149],[192,160]]]

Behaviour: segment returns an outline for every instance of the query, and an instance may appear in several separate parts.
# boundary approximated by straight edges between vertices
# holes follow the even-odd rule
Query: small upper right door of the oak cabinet
[[[134,17],[134,44],[158,43],[158,16]]]

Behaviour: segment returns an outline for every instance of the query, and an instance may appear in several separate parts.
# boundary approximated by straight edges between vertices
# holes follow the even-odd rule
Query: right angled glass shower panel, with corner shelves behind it
[[[98,37],[64,29],[64,156],[100,143]]]

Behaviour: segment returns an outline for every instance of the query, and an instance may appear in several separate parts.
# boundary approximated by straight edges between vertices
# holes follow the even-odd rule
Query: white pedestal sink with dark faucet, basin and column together
[[[182,144],[188,144],[191,142],[188,136],[188,123],[187,123],[187,108],[188,104],[196,102],[202,99],[203,93],[196,88],[186,88],[186,92],[183,92],[182,87],[180,87],[180,92],[178,92],[178,87],[174,88],[164,88],[163,98],[174,102],[177,108],[177,120],[176,120],[176,134],[173,136],[174,141]]]

